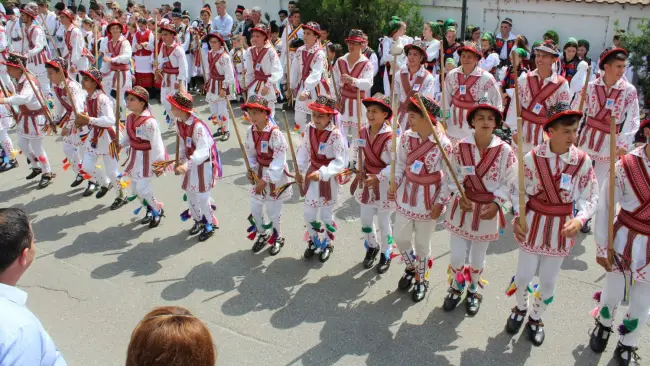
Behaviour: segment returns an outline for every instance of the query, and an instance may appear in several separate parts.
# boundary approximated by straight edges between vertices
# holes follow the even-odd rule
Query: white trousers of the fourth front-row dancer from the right
[[[427,279],[429,275],[429,269],[431,268],[429,262],[431,258],[431,239],[435,228],[435,220],[415,221],[400,214],[395,215],[395,243],[407,268],[417,267],[419,281]],[[415,240],[413,239],[414,236]],[[411,248],[415,248],[417,256],[411,254]]]

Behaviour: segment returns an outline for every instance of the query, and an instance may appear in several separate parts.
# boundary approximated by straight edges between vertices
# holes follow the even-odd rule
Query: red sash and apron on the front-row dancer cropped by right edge
[[[614,223],[614,236],[625,226],[628,229],[627,242],[623,251],[623,258],[627,263],[632,261],[634,239],[638,235],[650,236],[650,177],[645,168],[643,159],[639,156],[627,154],[621,157],[621,164],[625,175],[630,181],[634,195],[641,205],[633,212],[621,209]],[[614,204],[610,202],[610,204]],[[650,263],[650,246],[646,248],[646,264]]]

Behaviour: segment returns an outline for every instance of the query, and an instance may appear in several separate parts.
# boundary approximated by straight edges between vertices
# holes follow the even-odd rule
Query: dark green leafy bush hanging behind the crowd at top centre
[[[298,8],[303,23],[329,25],[330,41],[345,45],[348,32],[356,28],[368,34],[370,47],[375,50],[391,16],[405,21],[406,33],[411,35],[422,34],[424,24],[419,0],[299,0]]]

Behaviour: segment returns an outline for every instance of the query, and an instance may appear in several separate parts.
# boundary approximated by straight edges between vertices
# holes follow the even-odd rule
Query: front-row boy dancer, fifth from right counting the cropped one
[[[361,127],[360,140],[354,145],[353,158],[358,156],[358,149],[362,148],[364,165],[359,167],[357,164],[357,171],[359,169],[363,171],[357,172],[351,190],[361,207],[361,232],[366,247],[363,265],[365,268],[372,267],[377,254],[381,253],[377,272],[386,273],[390,268],[390,252],[393,245],[390,215],[395,210],[395,202],[388,199],[391,169],[390,142],[393,136],[389,121],[393,111],[390,108],[390,98],[381,93],[363,99],[362,103],[366,109],[368,126]],[[379,240],[373,222],[375,215],[381,233]]]

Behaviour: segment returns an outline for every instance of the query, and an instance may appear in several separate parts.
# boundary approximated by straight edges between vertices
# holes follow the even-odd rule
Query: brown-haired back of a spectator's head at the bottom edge
[[[126,366],[213,366],[217,352],[205,324],[189,310],[151,310],[131,333]]]

